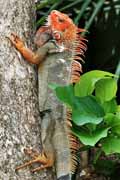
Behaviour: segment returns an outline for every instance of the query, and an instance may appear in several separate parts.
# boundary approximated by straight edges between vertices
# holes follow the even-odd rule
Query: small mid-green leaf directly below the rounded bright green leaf
[[[115,113],[117,111],[117,102],[116,99],[111,99],[102,103],[102,107],[105,113]]]

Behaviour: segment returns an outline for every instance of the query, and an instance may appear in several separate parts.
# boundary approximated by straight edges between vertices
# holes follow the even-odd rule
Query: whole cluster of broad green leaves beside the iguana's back
[[[85,146],[100,144],[106,155],[120,153],[120,106],[112,73],[94,70],[73,85],[51,84],[57,97],[72,110],[72,131]]]

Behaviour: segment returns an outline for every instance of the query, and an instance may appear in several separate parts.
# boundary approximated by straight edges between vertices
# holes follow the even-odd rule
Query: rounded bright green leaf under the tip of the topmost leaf
[[[95,85],[95,95],[101,101],[110,101],[116,96],[117,83],[113,78],[100,79]]]

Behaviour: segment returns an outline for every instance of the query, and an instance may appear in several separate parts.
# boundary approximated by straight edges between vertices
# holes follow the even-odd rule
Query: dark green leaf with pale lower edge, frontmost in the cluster
[[[72,110],[73,122],[78,126],[99,124],[103,120],[104,110],[94,96],[76,97]]]

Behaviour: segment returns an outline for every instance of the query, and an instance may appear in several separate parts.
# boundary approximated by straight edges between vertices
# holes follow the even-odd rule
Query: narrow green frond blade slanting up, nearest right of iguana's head
[[[86,10],[87,6],[90,4],[90,2],[91,2],[91,0],[87,0],[81,6],[80,13],[77,15],[77,17],[75,18],[75,21],[74,21],[76,25],[78,25],[80,18],[82,17],[83,13],[85,12],[85,10]]]

